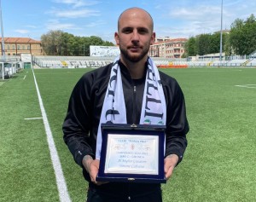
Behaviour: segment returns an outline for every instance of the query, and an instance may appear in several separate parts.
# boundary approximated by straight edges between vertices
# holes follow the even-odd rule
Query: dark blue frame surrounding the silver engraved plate
[[[98,182],[145,182],[145,183],[166,183],[164,171],[165,157],[165,130],[164,125],[146,124],[102,124],[102,150],[101,160],[96,181]],[[106,173],[106,155],[108,149],[108,135],[133,136],[158,136],[158,173],[157,174],[135,174],[135,173]]]

